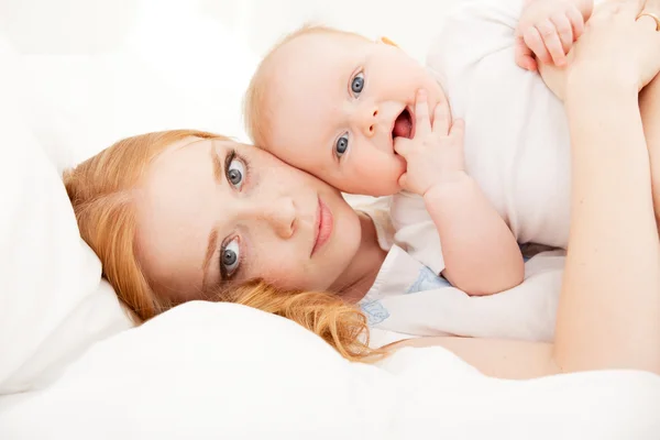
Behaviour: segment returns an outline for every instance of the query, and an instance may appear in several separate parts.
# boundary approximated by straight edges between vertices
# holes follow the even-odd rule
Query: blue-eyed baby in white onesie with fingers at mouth
[[[394,195],[394,243],[453,286],[508,289],[524,276],[518,243],[568,242],[568,125],[530,70],[563,66],[591,11],[591,0],[463,4],[428,68],[386,38],[305,28],[260,65],[249,132],[342,191]]]

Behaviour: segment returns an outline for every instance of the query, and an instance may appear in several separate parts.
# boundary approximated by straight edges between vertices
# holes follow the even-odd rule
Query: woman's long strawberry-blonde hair
[[[147,133],[119,141],[64,174],[80,235],[101,260],[103,276],[119,298],[142,320],[175,304],[154,289],[140,264],[133,190],[148,164],[167,146],[186,138],[230,141],[226,136],[194,130]],[[239,287],[224,286],[206,297],[288,318],[352,361],[371,360],[382,354],[369,348],[364,315],[337,295],[287,292],[254,279]]]

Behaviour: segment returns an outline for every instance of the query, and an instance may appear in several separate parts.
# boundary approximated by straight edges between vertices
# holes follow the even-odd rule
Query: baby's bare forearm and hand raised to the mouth
[[[463,166],[463,123],[450,130],[447,102],[431,129],[426,95],[416,103],[415,139],[396,139],[408,162],[402,186],[424,197],[442,243],[442,274],[469,295],[491,295],[522,282],[520,249],[512,231]]]

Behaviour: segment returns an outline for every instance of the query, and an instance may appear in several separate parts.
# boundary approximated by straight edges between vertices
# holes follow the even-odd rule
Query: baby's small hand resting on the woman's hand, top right
[[[544,64],[565,66],[588,14],[591,4],[584,0],[528,0],[516,29],[516,64],[536,70],[536,55]]]

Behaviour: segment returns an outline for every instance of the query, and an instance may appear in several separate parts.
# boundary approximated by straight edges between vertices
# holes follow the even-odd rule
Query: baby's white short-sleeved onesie
[[[565,248],[570,138],[562,102],[514,59],[522,0],[461,3],[431,45],[428,67],[465,121],[465,166],[519,243]],[[394,196],[395,241],[440,273],[438,231],[424,200]]]

